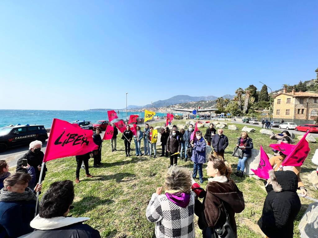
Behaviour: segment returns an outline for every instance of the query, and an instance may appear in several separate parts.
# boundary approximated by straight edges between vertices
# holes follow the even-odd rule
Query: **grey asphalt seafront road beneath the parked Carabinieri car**
[[[165,119],[155,119],[155,121],[152,122],[146,122],[148,124],[152,124],[152,123],[156,123],[156,122],[165,122]],[[140,126],[143,126],[142,124],[138,124]],[[101,138],[103,138],[104,136],[104,131],[100,134]],[[50,133],[47,133],[48,136],[50,136]],[[117,136],[117,138],[120,138]],[[46,150],[46,144],[47,144],[47,140],[46,142],[42,145],[42,149],[41,151],[43,153],[45,153]],[[24,155],[26,152],[29,151],[29,145],[25,145],[25,146],[20,146],[20,147],[11,147],[8,148],[6,151],[0,153],[0,160],[5,160],[8,164],[9,164],[9,168],[17,166],[17,160]]]

